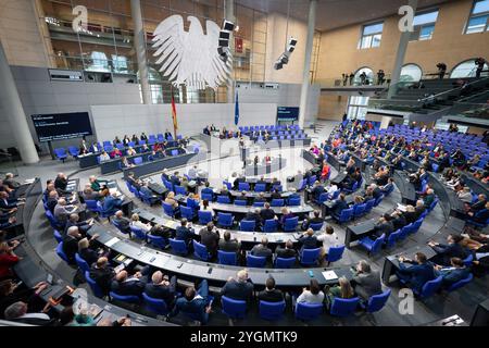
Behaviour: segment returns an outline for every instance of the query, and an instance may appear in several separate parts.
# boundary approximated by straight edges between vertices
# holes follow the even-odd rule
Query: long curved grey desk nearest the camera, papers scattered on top
[[[179,281],[208,279],[210,285],[223,286],[229,277],[235,277],[241,266],[222,265],[183,258],[155,249],[142,247],[129,239],[121,239],[117,233],[106,227],[93,225],[89,235],[98,234],[98,241],[116,253],[122,253],[134,261],[160,269],[165,273],[176,274]],[[326,279],[325,271],[334,271],[335,278]],[[310,275],[311,272],[311,275]],[[265,287],[266,279],[272,275],[276,287],[285,290],[299,289],[309,286],[311,278],[317,279],[321,285],[334,285],[338,278],[346,276],[351,279],[353,272],[350,266],[343,268],[315,268],[315,269],[254,269],[248,268],[248,275],[253,284],[260,288]]]

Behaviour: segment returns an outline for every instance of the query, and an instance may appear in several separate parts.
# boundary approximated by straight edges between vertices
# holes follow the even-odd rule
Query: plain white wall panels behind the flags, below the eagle
[[[164,133],[173,133],[171,104],[133,104],[133,105],[92,105],[91,116],[101,141],[114,137]],[[202,103],[177,104],[178,134],[192,136],[202,133],[210,124],[216,127],[226,126],[236,129],[235,104]],[[276,103],[239,103],[239,126],[275,124],[277,115]]]

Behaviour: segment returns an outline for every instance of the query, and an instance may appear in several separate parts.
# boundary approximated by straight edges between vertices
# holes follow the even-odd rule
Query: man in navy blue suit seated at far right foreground
[[[411,265],[406,265],[411,263]],[[414,260],[404,257],[399,258],[399,279],[406,283],[411,288],[421,291],[426,282],[435,279],[435,269],[432,263],[428,262],[426,254],[416,252]]]

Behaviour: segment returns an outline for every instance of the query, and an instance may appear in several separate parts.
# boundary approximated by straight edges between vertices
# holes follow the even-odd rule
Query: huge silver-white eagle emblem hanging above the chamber
[[[223,61],[217,52],[220,27],[205,22],[205,34],[199,18],[188,16],[188,32],[180,15],[172,15],[161,22],[154,30],[153,53],[161,64],[160,72],[174,86],[186,85],[197,89],[206,86],[216,89],[225,83],[233,69],[233,58]]]

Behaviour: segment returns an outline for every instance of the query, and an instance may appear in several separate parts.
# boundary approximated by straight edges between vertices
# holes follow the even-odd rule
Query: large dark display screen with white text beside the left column
[[[88,112],[30,115],[40,142],[92,135]]]

